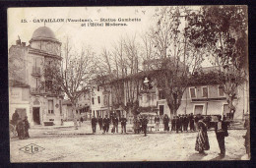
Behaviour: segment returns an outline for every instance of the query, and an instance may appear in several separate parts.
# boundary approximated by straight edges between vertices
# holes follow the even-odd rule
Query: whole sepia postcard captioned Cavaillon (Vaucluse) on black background
[[[8,9],[11,162],[249,160],[247,6]]]

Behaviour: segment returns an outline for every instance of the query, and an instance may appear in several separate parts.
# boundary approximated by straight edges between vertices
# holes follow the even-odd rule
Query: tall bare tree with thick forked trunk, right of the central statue
[[[189,77],[203,61],[202,50],[188,40],[186,19],[190,13],[187,7],[157,9],[157,25],[149,33],[160,62],[155,78],[165,92],[170,115],[176,115]]]

